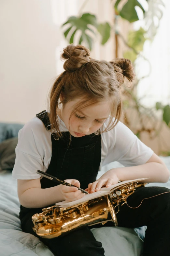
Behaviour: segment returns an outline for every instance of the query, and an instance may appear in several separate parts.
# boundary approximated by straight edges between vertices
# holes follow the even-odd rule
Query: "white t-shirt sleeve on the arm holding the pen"
[[[28,122],[18,134],[18,144],[15,149],[16,159],[12,171],[15,179],[38,179],[41,176],[36,173],[37,170],[43,171],[43,147],[41,147],[41,134],[43,124],[41,120],[32,120]]]

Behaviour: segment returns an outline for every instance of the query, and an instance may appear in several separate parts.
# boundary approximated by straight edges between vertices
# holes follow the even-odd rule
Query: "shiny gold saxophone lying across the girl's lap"
[[[43,208],[42,213],[32,216],[33,230],[41,237],[54,238],[84,225],[92,226],[99,223],[104,225],[107,221],[113,221],[117,227],[116,214],[120,211],[120,205],[125,204],[127,197],[132,195],[137,188],[144,187],[146,184],[148,183],[131,182],[122,185],[108,195],[68,208],[56,205]]]

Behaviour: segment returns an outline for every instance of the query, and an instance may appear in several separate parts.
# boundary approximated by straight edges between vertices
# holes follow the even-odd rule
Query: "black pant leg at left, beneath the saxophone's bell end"
[[[24,232],[31,233],[38,237],[40,241],[50,248],[55,256],[104,256],[105,251],[102,247],[102,243],[96,241],[88,226],[84,226],[81,229],[72,231],[61,237],[48,239],[38,236],[32,229],[34,224],[31,217],[35,213],[35,209],[30,209],[29,213],[21,218],[21,228]]]

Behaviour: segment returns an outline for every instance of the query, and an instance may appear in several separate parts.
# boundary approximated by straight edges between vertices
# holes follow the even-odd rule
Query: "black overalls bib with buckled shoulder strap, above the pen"
[[[45,127],[50,123],[48,113],[37,115]],[[47,173],[59,179],[78,179],[80,187],[85,189],[96,180],[101,161],[101,135],[94,133],[76,138],[70,133],[62,132],[63,138],[55,140],[51,134],[52,157]],[[69,147],[68,147],[69,145]],[[56,183],[42,178],[41,188],[56,186]]]

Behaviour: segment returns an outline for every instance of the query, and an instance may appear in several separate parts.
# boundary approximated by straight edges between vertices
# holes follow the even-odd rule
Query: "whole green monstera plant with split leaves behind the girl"
[[[68,20],[62,25],[64,29],[64,36],[69,43],[81,44],[83,42],[89,49],[92,49],[93,42],[96,39],[97,34],[100,34],[101,44],[104,45],[110,38],[110,32],[112,30],[115,34],[115,56],[119,57],[118,48],[120,46],[118,38],[120,38],[124,42],[124,44],[129,48],[128,51],[125,51],[123,53],[123,57],[130,59],[135,65],[135,60],[139,56],[143,57],[142,51],[145,41],[153,40],[154,36],[156,35],[157,28],[159,27],[159,22],[163,16],[164,3],[162,0],[144,1],[148,2],[147,11],[144,9],[144,6],[142,6],[142,4],[139,3],[138,0],[127,0],[126,2],[124,0],[111,0],[111,3],[113,4],[113,11],[115,17],[113,26],[108,22],[99,23],[97,21],[96,16],[91,13],[83,13],[78,16],[69,17]],[[88,0],[84,1],[83,7],[87,2]],[[130,30],[127,38],[125,39],[119,31],[119,20],[124,19],[127,20],[129,23],[138,21],[139,17],[136,11],[136,7],[143,12],[143,26],[140,27],[138,30]],[[140,80],[142,78],[140,78]],[[134,89],[131,91],[126,90],[124,93],[124,122],[126,123],[126,125],[130,127],[130,120],[128,119],[126,111],[129,108],[133,107],[138,112],[139,118],[142,118],[143,113],[145,113],[145,115],[147,115],[149,118],[153,118],[153,112],[155,110],[161,110],[162,120],[170,128],[170,106],[163,106],[161,103],[157,102],[154,111],[153,109],[149,109],[143,106],[140,103],[140,99],[138,99],[135,93],[135,88],[138,82],[139,79],[136,79]],[[158,130],[160,130],[160,128],[156,129],[154,123],[152,129],[145,128],[145,125],[144,123],[142,123],[141,120],[140,123],[142,124],[142,128],[134,130],[135,134],[138,137],[140,137],[140,133],[142,131],[148,131],[149,134],[151,134],[151,132],[153,134],[154,131],[155,135],[158,135]]]

